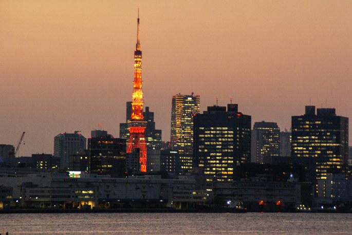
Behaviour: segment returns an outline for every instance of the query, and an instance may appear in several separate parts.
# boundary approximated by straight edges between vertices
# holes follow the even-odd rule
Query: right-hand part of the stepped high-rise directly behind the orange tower
[[[149,111],[149,107],[145,107],[143,112],[145,128],[145,142],[147,150],[161,149],[161,130],[155,130],[154,112]]]

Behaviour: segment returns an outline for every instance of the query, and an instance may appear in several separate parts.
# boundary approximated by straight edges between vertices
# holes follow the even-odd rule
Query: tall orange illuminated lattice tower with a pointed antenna
[[[139,43],[139,8],[137,19],[137,44],[135,51],[135,80],[133,81],[132,93],[132,115],[128,122],[129,139],[127,153],[137,153],[139,149],[139,170],[146,172],[146,145],[145,127],[146,122],[143,117],[143,91],[142,91],[142,52]]]

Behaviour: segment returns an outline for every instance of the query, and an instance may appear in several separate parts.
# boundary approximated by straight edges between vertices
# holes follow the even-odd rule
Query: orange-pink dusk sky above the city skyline
[[[132,101],[137,12],[144,106],[170,140],[172,95],[238,103],[281,130],[305,105],[352,118],[352,1],[0,1],[0,144],[53,154]],[[351,129],[349,129],[351,133]],[[351,135],[349,143],[351,143]]]

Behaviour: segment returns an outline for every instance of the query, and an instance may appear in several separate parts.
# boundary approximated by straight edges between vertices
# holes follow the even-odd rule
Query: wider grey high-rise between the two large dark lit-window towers
[[[252,130],[252,162],[268,162],[279,156],[280,128],[276,122],[255,122]]]

